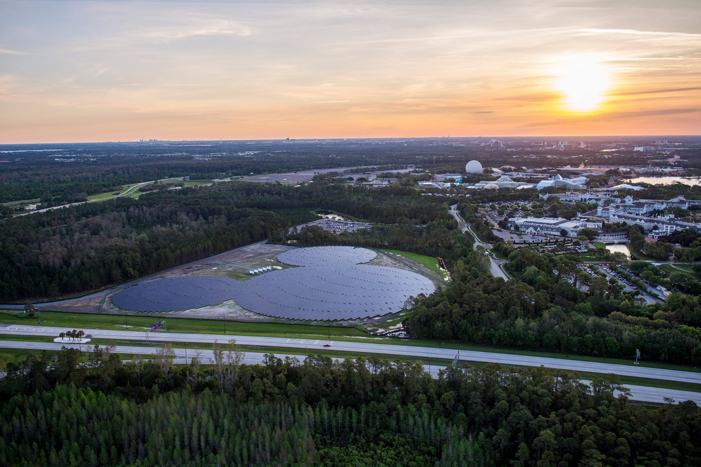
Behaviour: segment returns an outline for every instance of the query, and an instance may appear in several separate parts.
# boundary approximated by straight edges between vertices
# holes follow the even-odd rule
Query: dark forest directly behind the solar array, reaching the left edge
[[[7,218],[0,228],[0,302],[86,293],[260,240],[281,239],[287,228],[317,219],[313,209],[399,224],[393,246],[400,246],[404,235],[414,235],[407,230],[421,231],[421,242],[430,245],[426,229],[410,226],[433,222],[443,230],[453,228],[440,204],[402,187],[232,182]],[[444,245],[454,239],[446,238]],[[435,245],[430,251],[437,251]]]

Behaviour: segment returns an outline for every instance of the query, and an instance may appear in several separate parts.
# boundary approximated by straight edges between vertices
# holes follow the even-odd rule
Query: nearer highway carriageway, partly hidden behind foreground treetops
[[[0,341],[0,348],[10,348],[10,349],[37,349],[37,350],[53,350],[58,351],[62,347],[73,347],[75,349],[81,348],[79,344],[57,344],[55,342],[21,342],[21,341]],[[82,349],[87,350],[93,347],[92,344],[83,344]],[[156,354],[158,347],[139,347],[130,345],[118,345],[115,351],[119,354],[133,354],[133,355],[153,355]],[[214,358],[214,354],[211,350],[203,349],[173,349],[175,351],[175,363],[189,363],[189,361],[197,356],[203,363],[211,363]],[[285,358],[287,356],[299,358],[302,360],[301,355],[294,354],[275,354],[278,358]],[[245,358],[243,363],[249,365],[262,363],[263,353],[262,352],[251,352],[245,353]],[[424,370],[430,372],[433,377],[437,377],[438,372],[445,367],[442,365],[423,365]],[[590,381],[583,380],[585,384],[591,384]],[[676,389],[660,389],[648,386],[635,386],[627,385],[627,388],[631,391],[631,398],[633,400],[641,400],[643,402],[654,402],[654,403],[665,403],[665,398],[673,398],[677,403],[684,400],[693,400],[695,403],[701,405],[701,393],[693,391],[679,391]]]

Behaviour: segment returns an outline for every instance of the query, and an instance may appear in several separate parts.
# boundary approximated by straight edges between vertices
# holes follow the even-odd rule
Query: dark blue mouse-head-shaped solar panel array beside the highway
[[[300,248],[280,254],[290,265],[243,283],[212,276],[144,282],[113,298],[138,311],[171,311],[235,300],[252,312],[290,319],[359,319],[402,309],[411,295],[432,293],[433,282],[415,272],[370,266],[374,251],[350,246]]]

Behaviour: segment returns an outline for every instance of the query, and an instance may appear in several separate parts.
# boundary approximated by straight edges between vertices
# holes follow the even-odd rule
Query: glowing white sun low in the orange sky
[[[562,64],[556,88],[564,104],[573,112],[593,112],[601,108],[611,85],[608,70],[592,57],[573,57]]]

